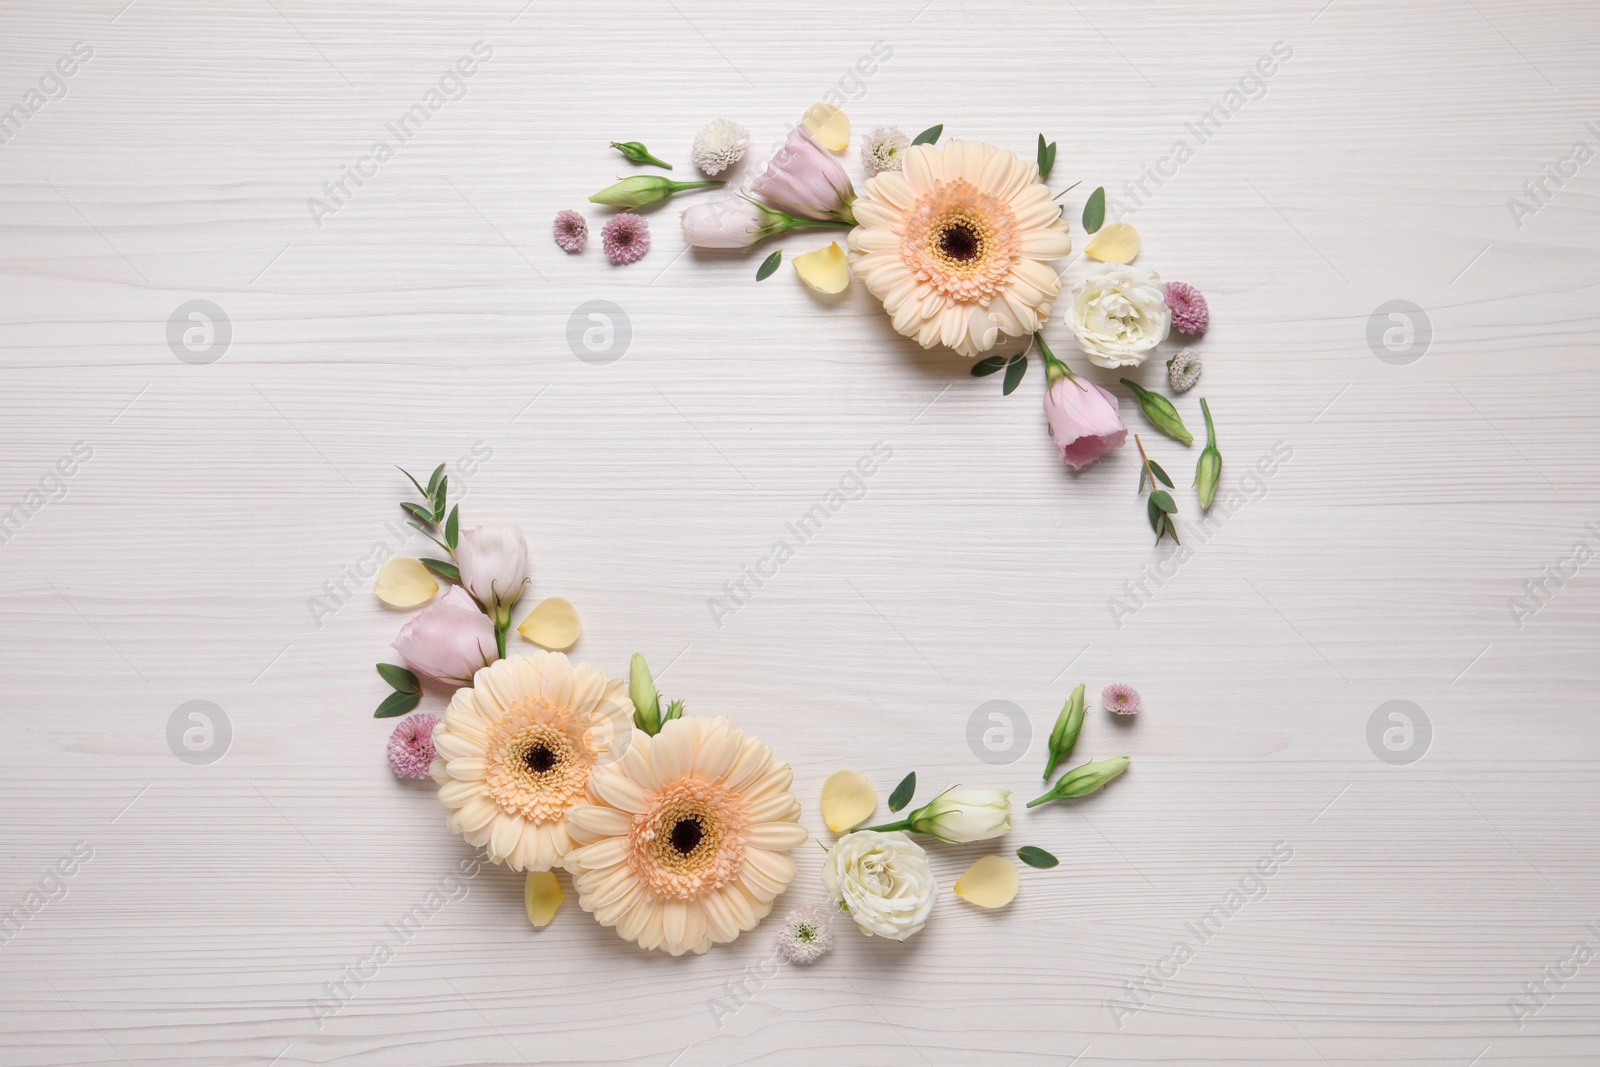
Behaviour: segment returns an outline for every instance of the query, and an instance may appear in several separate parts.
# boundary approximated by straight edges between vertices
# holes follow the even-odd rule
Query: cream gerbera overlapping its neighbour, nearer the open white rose
[[[773,910],[805,843],[794,773],[726,718],[690,717],[590,779],[566,856],[578,904],[643,949],[672,955],[733,941]]]

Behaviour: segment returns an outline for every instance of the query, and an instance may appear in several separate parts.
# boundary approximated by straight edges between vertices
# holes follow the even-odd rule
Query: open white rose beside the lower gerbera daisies
[[[904,833],[856,830],[822,862],[822,885],[861,933],[906,941],[928,923],[938,886],[928,853]]]

